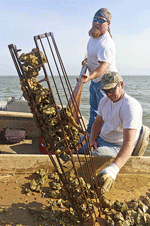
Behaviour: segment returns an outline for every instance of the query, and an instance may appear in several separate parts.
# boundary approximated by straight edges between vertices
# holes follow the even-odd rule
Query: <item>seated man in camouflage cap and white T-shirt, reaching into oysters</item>
[[[94,156],[115,157],[110,166],[98,175],[101,193],[105,194],[137,144],[142,128],[142,107],[125,93],[123,79],[117,72],[106,73],[100,89],[105,96],[99,102],[89,145],[94,148]]]

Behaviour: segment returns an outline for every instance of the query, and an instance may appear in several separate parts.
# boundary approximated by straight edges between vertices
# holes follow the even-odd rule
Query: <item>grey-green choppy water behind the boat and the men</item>
[[[61,95],[63,104],[65,99],[63,98],[63,91],[60,80],[58,77],[56,84]],[[150,77],[149,76],[123,76],[125,91],[135,97],[142,105],[143,108],[143,124],[150,127]],[[76,84],[76,76],[69,76],[69,81],[72,86]],[[53,89],[53,82],[50,78],[50,83]],[[87,119],[89,117],[89,84],[86,83],[83,86],[82,98],[81,98],[81,113]],[[67,90],[67,89],[66,89]],[[55,93],[55,90],[53,90]],[[0,100],[7,100],[8,97],[13,96],[16,99],[20,98],[22,91],[20,89],[20,82],[18,76],[0,76]],[[56,97],[57,103],[57,97]],[[58,103],[59,104],[59,103]],[[147,148],[145,155],[150,155],[150,144]]]

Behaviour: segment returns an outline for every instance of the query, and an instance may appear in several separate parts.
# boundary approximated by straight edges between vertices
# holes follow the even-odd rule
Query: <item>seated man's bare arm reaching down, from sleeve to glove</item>
[[[128,161],[128,159],[132,155],[135,145],[136,131],[137,131],[136,129],[123,130],[123,144],[117,157],[113,161],[113,163],[116,164],[119,167],[119,169],[121,169],[124,166],[124,164]]]

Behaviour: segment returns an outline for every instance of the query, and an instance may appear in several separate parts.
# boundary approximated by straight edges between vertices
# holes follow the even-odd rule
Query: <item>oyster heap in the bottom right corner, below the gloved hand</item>
[[[132,199],[129,202],[116,200],[104,208],[108,226],[150,226],[150,197]]]

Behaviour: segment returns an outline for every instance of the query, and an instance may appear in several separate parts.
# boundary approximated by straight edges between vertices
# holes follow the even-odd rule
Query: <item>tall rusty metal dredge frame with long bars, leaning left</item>
[[[66,135],[65,135],[65,132],[64,132],[64,128],[63,128],[63,125],[62,125],[62,122],[61,122],[61,118],[60,118],[60,115],[59,115],[59,111],[58,111],[58,108],[57,108],[57,104],[56,104],[56,101],[55,101],[55,98],[54,98],[54,94],[53,94],[53,91],[52,91],[52,88],[51,88],[51,85],[50,85],[50,82],[49,82],[49,78],[48,78],[48,74],[47,74],[47,71],[46,71],[46,67],[44,65],[44,62],[43,62],[43,59],[42,59],[42,56],[41,56],[41,53],[40,53],[40,51],[43,51],[45,57],[47,58],[47,65],[48,65],[48,68],[49,68],[50,76],[52,77],[53,83],[55,85],[55,89],[56,89],[56,92],[57,92],[57,95],[58,95],[61,107],[62,107],[62,109],[64,109],[64,106],[63,106],[63,103],[62,103],[62,100],[61,100],[61,95],[60,95],[59,90],[58,90],[57,85],[56,85],[55,76],[53,75],[53,72],[52,72],[52,69],[51,69],[51,66],[50,66],[50,62],[48,60],[48,56],[46,54],[46,51],[45,51],[45,48],[44,48],[44,44],[42,42],[43,38],[46,38],[46,40],[48,42],[48,45],[49,45],[49,48],[50,48],[50,52],[52,54],[52,58],[54,60],[55,66],[56,66],[56,69],[57,69],[57,72],[58,72],[58,75],[59,75],[60,82],[61,82],[62,87],[63,87],[63,92],[65,94],[67,103],[69,101],[69,97],[72,98],[72,103],[75,104],[74,105],[75,106],[75,110],[78,113],[78,116],[79,116],[79,119],[80,119],[79,123],[80,123],[80,127],[82,128],[82,130],[85,130],[85,125],[84,125],[84,121],[83,121],[82,115],[80,113],[80,110],[77,107],[77,104],[75,103],[76,100],[75,100],[75,97],[73,95],[73,90],[72,90],[71,84],[69,82],[69,79],[68,79],[65,67],[64,67],[62,59],[61,59],[61,56],[59,54],[59,51],[58,51],[58,48],[57,48],[57,45],[56,45],[53,33],[49,32],[49,33],[45,33],[45,34],[42,34],[42,35],[34,36],[34,41],[35,41],[35,45],[36,45],[35,52],[38,52],[39,55],[40,55],[40,58],[41,58],[40,59],[41,60],[41,64],[36,66],[36,67],[42,67],[43,71],[44,71],[44,78],[41,79],[40,81],[38,81],[38,83],[46,82],[47,85],[48,85],[48,88],[49,88],[48,94],[52,95],[53,100],[54,100],[54,105],[53,106],[56,108],[56,112],[57,112],[57,115],[54,118],[57,118],[57,120],[59,120],[59,123],[61,124],[61,129],[62,129],[63,134],[64,134],[64,141],[68,144],[67,139],[66,139]],[[51,38],[51,41],[50,41],[50,38]],[[69,148],[69,146],[67,145],[67,148],[62,151],[62,153],[63,152],[69,153],[70,159],[68,161],[70,161],[70,163],[72,163],[72,164],[70,164],[70,165],[72,165],[72,167],[70,169],[67,169],[67,171],[64,170],[64,163],[62,164],[62,161],[61,161],[60,157],[58,155],[56,155],[56,158],[54,158],[54,155],[51,154],[51,151],[53,150],[54,144],[53,144],[52,140],[50,139],[50,144],[51,145],[49,147],[47,145],[46,140],[45,140],[45,136],[44,136],[43,131],[44,131],[44,129],[46,129],[46,126],[43,123],[43,118],[41,117],[41,114],[38,111],[38,104],[35,101],[35,98],[34,98],[34,96],[32,94],[32,89],[30,88],[30,85],[28,83],[29,77],[26,77],[26,75],[24,73],[24,70],[23,70],[23,64],[19,61],[19,54],[18,54],[18,52],[21,51],[21,49],[17,49],[17,47],[15,45],[13,45],[13,44],[8,45],[8,47],[9,47],[12,59],[14,61],[16,70],[18,72],[19,78],[20,79],[24,79],[24,87],[27,87],[26,91],[27,91],[28,98],[30,99],[31,112],[34,114],[34,120],[35,120],[36,125],[38,127],[39,134],[40,134],[40,136],[42,138],[42,142],[43,142],[44,147],[45,147],[45,149],[47,151],[47,154],[48,154],[48,156],[49,156],[49,158],[50,158],[55,170],[57,171],[57,173],[58,173],[58,175],[59,175],[59,177],[60,177],[60,179],[61,179],[61,181],[62,181],[62,183],[64,185],[64,188],[67,190],[68,194],[70,194],[70,191],[68,190],[66,185],[67,184],[71,185],[72,182],[70,182],[68,180],[68,178],[66,177],[66,172],[71,172],[72,170],[74,171],[74,174],[76,176],[75,179],[78,180],[79,186],[76,187],[73,190],[72,194],[74,192],[76,192],[77,189],[79,189],[79,188],[80,188],[81,193],[79,194],[79,196],[77,198],[73,198],[72,196],[69,196],[69,199],[70,199],[73,207],[75,208],[75,210],[77,212],[79,220],[82,223],[90,221],[90,225],[94,225],[95,222],[98,221],[98,219],[101,216],[101,201],[100,201],[100,194],[99,194],[99,191],[98,191],[98,184],[97,184],[96,175],[95,175],[94,162],[93,162],[93,158],[91,156],[91,150],[88,148],[89,149],[89,154],[88,155],[85,153],[85,150],[84,150],[85,154],[79,155],[78,154],[78,148],[75,146],[74,139],[72,137],[73,143],[74,143],[74,146],[75,146],[76,156],[78,157],[78,161],[79,161],[79,165],[80,165],[80,169],[81,169],[81,173],[82,173],[82,175],[80,175],[80,176],[83,177],[83,179],[85,180],[85,183],[86,183],[86,193],[85,193],[83,185],[82,185],[82,183],[81,183],[81,181],[79,179],[80,176],[79,176],[78,171],[77,171],[76,166],[75,166],[72,150]],[[31,52],[31,53],[33,53],[33,52]],[[60,69],[62,71],[63,76],[61,75]],[[65,84],[64,84],[64,81],[63,81],[62,78],[64,78]],[[69,91],[69,97],[68,97],[68,94],[66,92],[65,85],[67,86],[67,89]],[[54,118],[52,118],[52,120]],[[79,134],[79,136],[80,136],[80,134]],[[62,142],[62,141],[63,140],[60,140],[58,142]],[[82,141],[81,141],[81,146],[84,149]],[[89,158],[87,158],[87,156]],[[95,199],[96,205],[97,205],[97,211],[95,210],[94,206],[93,206],[93,208],[91,208],[89,206],[88,197],[91,197],[91,194],[90,194],[90,190],[89,190],[89,188],[87,186],[87,179],[85,177],[84,170],[83,170],[83,167],[82,167],[82,164],[81,164],[81,159],[80,158],[82,158],[82,160],[83,160],[83,157],[85,158],[86,170],[88,171],[88,174],[90,176],[91,186],[92,186],[93,190],[97,194],[97,197]],[[93,178],[94,178],[94,180],[93,180]],[[78,202],[79,199],[81,199],[82,197],[84,197],[83,202],[78,204],[79,203]],[[83,204],[86,204],[87,208],[86,208],[85,211],[81,212],[79,207],[81,205],[83,205]]]

